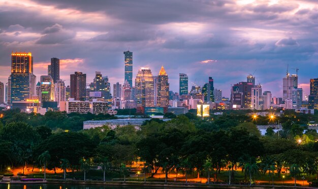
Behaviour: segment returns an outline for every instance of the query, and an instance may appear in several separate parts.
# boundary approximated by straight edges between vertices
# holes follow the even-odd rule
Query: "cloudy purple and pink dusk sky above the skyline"
[[[123,51],[157,75],[164,66],[170,89],[178,74],[229,97],[230,86],[255,72],[256,82],[282,96],[287,65],[299,68],[299,86],[309,93],[318,70],[316,0],[0,0],[0,81],[10,75],[11,52],[30,51],[38,79],[51,57],[60,75],[95,71],[123,82]]]

